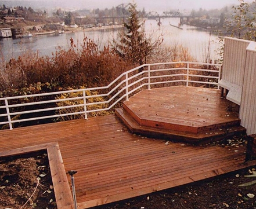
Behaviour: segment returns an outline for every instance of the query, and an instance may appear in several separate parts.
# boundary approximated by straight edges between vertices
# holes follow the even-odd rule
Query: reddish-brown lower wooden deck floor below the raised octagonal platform
[[[244,146],[165,142],[131,134],[111,115],[0,130],[0,156],[48,149],[57,206],[65,209],[74,207],[67,189],[70,177],[63,174],[62,166],[66,172],[77,171],[75,189],[82,209],[256,164],[255,160],[244,163]]]

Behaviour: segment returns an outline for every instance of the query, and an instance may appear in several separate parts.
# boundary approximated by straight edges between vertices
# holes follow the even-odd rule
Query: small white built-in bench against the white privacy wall
[[[228,94],[226,95],[227,100],[232,101],[237,105],[241,104],[242,86],[236,85],[235,83],[231,83],[224,79],[219,80],[219,86],[223,89],[229,90]]]

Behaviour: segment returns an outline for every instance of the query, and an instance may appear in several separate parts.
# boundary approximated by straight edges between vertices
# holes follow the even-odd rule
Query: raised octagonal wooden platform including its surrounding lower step
[[[143,90],[116,114],[134,133],[200,143],[245,131],[229,104],[217,89],[174,86]]]

